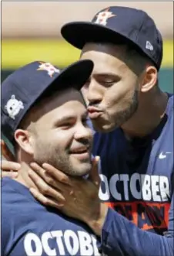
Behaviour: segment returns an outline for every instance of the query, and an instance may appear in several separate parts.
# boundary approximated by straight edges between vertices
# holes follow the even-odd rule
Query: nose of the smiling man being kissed
[[[76,140],[85,140],[89,143],[89,141],[92,139],[92,130],[87,125],[78,125],[76,126],[74,137]]]

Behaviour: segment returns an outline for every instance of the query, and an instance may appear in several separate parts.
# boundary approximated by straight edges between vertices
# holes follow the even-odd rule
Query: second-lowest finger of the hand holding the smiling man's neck
[[[62,196],[62,194],[59,193],[59,191],[53,189],[47,183],[45,183],[45,181],[33,170],[29,170],[28,176],[32,179],[32,182],[35,184],[39,193],[42,194],[42,196],[52,196],[52,198],[54,198],[58,205],[65,203],[65,198]]]

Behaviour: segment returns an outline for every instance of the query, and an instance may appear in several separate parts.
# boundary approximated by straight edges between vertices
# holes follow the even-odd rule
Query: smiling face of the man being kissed
[[[28,127],[33,161],[48,162],[72,176],[91,169],[92,131],[82,94],[67,89],[43,100]],[[33,116],[33,115],[32,115]],[[37,118],[36,118],[37,117]]]

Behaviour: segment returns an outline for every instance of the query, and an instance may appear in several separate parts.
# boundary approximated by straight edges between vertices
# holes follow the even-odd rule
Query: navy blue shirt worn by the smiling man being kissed
[[[82,222],[46,208],[28,188],[2,179],[2,255],[99,255],[96,237]]]

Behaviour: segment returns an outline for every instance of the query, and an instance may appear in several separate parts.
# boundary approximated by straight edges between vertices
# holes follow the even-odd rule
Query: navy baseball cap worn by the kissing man
[[[62,36],[82,49],[85,43],[125,43],[145,53],[157,70],[162,63],[162,36],[152,18],[139,9],[111,6],[99,11],[91,22],[69,22]]]

